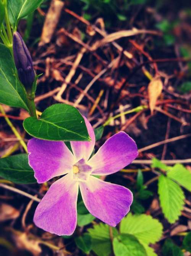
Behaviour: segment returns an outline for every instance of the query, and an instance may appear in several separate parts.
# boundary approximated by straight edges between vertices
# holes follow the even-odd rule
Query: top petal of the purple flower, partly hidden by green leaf
[[[82,158],[85,160],[88,160],[95,146],[94,129],[92,128],[90,122],[86,119],[86,117],[84,117],[84,121],[86,123],[89,136],[91,137],[91,141],[86,141],[86,142],[71,141],[70,142],[73,154],[76,157],[77,161]]]

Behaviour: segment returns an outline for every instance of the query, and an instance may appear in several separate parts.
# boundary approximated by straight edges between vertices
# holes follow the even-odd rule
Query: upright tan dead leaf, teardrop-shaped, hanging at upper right
[[[159,76],[155,76],[148,86],[149,107],[153,114],[158,97],[162,92],[163,84]]]

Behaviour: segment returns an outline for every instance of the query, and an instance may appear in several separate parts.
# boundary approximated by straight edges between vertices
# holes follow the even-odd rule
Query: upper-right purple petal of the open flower
[[[118,172],[137,156],[134,140],[125,132],[118,132],[106,140],[87,164],[92,167],[92,174],[107,175]]]

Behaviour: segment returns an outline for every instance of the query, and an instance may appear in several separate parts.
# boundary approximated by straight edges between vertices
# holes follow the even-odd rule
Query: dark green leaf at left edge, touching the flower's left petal
[[[36,183],[34,171],[28,164],[28,154],[0,159],[0,177],[18,184]]]

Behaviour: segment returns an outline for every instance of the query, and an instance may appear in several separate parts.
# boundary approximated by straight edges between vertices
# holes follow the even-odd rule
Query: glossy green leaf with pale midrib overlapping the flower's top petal
[[[23,126],[28,134],[38,139],[90,141],[83,117],[75,107],[66,104],[48,107],[40,119],[26,118]]]

